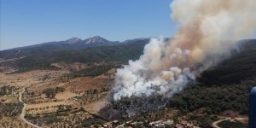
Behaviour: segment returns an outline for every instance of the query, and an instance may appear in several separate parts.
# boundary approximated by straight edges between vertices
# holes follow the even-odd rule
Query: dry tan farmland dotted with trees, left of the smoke
[[[1,73],[0,110],[4,113],[0,124],[3,127],[32,127],[20,117],[24,102],[26,108],[23,118],[34,125],[90,125],[94,114],[107,104],[109,84],[113,83],[116,69],[113,66],[103,69],[102,64],[105,65],[61,62],[52,64],[58,70]],[[101,72],[95,74],[93,71],[98,69]],[[25,91],[22,92],[22,89]],[[22,102],[19,101],[20,94]],[[61,121],[67,123],[58,123]]]

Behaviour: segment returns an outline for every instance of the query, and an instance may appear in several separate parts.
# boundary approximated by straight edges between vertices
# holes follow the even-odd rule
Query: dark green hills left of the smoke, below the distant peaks
[[[79,50],[56,50],[43,52],[44,54],[28,54],[25,58],[17,61],[1,62],[2,66],[15,67],[17,72],[26,72],[35,69],[55,69],[50,64],[64,61],[72,62],[109,62],[117,61],[125,63],[128,60],[135,60],[143,54],[145,44],[148,44],[149,38],[134,39],[124,42],[123,44],[114,44],[106,46],[89,47]],[[41,47],[42,48],[42,47]],[[44,49],[32,49],[35,52],[41,52]],[[16,73],[17,73],[16,72]]]

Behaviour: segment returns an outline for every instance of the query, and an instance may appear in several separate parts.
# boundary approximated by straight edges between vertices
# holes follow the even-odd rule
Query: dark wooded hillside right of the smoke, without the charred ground
[[[233,110],[247,115],[248,96],[256,85],[256,40],[247,40],[241,52],[201,74],[177,96],[169,99],[168,107],[184,113],[205,108],[208,114]]]

